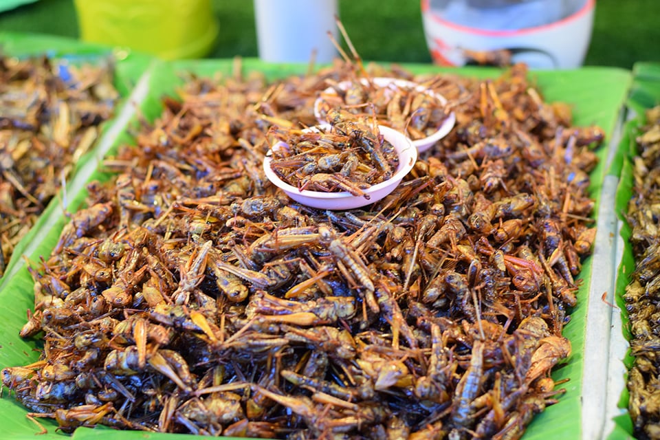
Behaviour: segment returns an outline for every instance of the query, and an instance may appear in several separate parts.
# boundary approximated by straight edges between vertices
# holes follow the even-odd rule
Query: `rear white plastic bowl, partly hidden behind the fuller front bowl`
[[[395,89],[397,87],[401,88],[406,88],[406,89],[415,89],[415,91],[419,91],[421,93],[428,94],[429,96],[432,96],[433,98],[437,99],[439,102],[441,102],[442,105],[447,104],[447,100],[445,99],[444,96],[441,94],[437,94],[432,90],[429,90],[428,88],[424,87],[423,85],[419,85],[417,83],[412,83],[412,81],[408,80],[401,80],[399,78],[386,78],[386,77],[375,77],[371,78],[371,81],[373,85],[376,87],[382,87],[384,89],[391,89],[392,94],[391,97],[394,96]],[[367,85],[368,82],[366,78],[362,78],[360,82],[363,85]],[[351,85],[351,81],[342,81],[337,85],[342,90],[346,90],[349,88]],[[324,96],[329,96],[329,95],[337,95],[337,91],[333,89],[333,87],[328,87],[322,93],[318,98],[316,98],[316,101],[314,101],[314,116],[316,116],[316,120],[318,120],[319,124],[327,124],[327,120],[322,117],[320,114],[320,106],[323,102]],[[388,97],[388,98],[391,98]],[[442,124],[438,127],[437,131],[433,133],[432,135],[428,137],[423,137],[421,139],[413,140],[412,144],[417,147],[417,151],[419,153],[428,150],[433,144],[441,140],[443,137],[448,135],[450,131],[452,131],[452,128],[454,127],[454,124],[456,123],[456,115],[454,115],[454,112],[450,113],[447,118],[442,122]]]

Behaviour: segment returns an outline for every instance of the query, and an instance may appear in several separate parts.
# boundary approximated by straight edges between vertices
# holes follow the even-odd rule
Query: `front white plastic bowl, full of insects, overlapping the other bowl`
[[[328,124],[320,125],[318,127],[312,127],[310,130],[328,130]],[[311,208],[320,208],[328,210],[347,210],[353,208],[361,208],[362,206],[375,203],[386,197],[390,192],[392,192],[401,182],[406,174],[410,173],[412,166],[415,165],[417,161],[417,148],[412,145],[412,142],[408,137],[399,133],[398,131],[391,129],[386,126],[379,126],[380,133],[383,135],[385,140],[390,142],[395,151],[399,155],[399,166],[395,171],[391,179],[380,182],[371,186],[370,188],[364,190],[366,194],[369,195],[369,199],[366,199],[362,196],[351,195],[350,192],[322,192],[322,191],[309,191],[309,190],[299,190],[295,186],[287,184],[285,181],[280,179],[276,173],[274,173],[270,164],[272,158],[269,154],[263,159],[263,170],[266,173],[266,177],[272,181],[272,183],[287,193],[289,197],[297,201],[298,203],[303,203],[303,205],[311,206]]]

